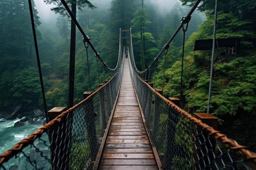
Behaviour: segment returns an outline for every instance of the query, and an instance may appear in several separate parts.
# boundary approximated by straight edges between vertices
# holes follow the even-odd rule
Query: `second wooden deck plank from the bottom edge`
[[[156,165],[155,159],[101,159],[101,165]]]

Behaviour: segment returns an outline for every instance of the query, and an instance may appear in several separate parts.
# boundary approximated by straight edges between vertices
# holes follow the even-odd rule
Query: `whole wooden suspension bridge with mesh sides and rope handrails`
[[[193,10],[184,17],[162,51],[188,22]],[[161,91],[152,88],[144,78],[146,72],[137,71],[131,30],[129,33],[129,45],[124,47],[120,29],[115,75],[97,91],[84,92],[79,104],[69,109],[49,110],[47,124],[0,155],[1,169],[255,168],[256,154],[216,130],[217,117],[207,113],[192,116],[179,107],[179,99],[166,99]],[[82,34],[87,42],[89,39]],[[125,51],[128,51],[127,58]]]

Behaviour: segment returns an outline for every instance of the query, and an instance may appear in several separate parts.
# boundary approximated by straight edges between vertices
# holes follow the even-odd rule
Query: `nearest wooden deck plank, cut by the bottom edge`
[[[155,165],[102,165],[99,170],[158,170]]]

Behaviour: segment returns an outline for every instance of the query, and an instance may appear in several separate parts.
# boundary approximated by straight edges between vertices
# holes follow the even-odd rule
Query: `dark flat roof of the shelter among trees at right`
[[[238,38],[223,38],[223,39],[216,39],[218,42],[218,47],[235,47],[236,41],[239,43],[240,39]],[[197,50],[210,50],[212,49],[213,39],[208,40],[196,40],[194,51]],[[215,49],[217,49],[217,43],[215,42]]]

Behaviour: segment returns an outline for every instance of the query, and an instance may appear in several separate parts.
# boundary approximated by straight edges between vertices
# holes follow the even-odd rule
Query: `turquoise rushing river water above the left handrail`
[[[4,120],[0,118],[0,154],[11,149],[20,140],[28,137],[43,126],[43,124],[31,124],[24,122],[23,126],[14,126],[20,119]]]

